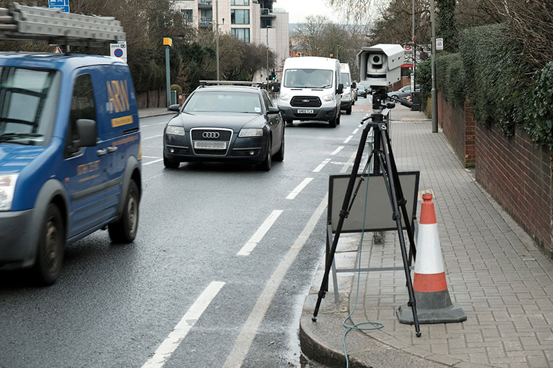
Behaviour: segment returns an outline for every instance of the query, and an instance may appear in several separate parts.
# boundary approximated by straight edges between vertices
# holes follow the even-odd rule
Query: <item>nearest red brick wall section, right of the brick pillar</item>
[[[476,180],[553,257],[552,151],[476,124]]]

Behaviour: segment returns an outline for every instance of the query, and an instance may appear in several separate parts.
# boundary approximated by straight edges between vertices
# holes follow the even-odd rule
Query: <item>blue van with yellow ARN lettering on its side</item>
[[[98,229],[133,242],[140,148],[123,61],[0,52],[0,269],[52,284],[66,244]]]

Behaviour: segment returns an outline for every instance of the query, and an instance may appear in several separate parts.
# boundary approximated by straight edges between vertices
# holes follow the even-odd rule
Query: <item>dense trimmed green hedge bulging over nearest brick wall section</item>
[[[509,40],[505,24],[469,28],[461,33],[460,53],[466,72],[472,112],[482,126],[496,124],[514,134],[529,108],[529,65],[521,61],[521,47]]]

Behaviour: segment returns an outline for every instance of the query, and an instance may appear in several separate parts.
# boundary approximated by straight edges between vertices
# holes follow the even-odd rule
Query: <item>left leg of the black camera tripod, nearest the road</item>
[[[319,313],[319,308],[321,307],[321,300],[324,298],[326,294],[325,290],[326,290],[326,287],[328,287],[328,274],[330,273],[330,268],[332,267],[332,260],[334,260],[336,247],[338,245],[338,240],[340,239],[341,228],[344,226],[344,220],[346,220],[346,217],[348,217],[348,206],[350,204],[351,195],[353,193],[353,187],[355,186],[355,179],[357,178],[357,171],[359,171],[359,164],[361,164],[363,150],[365,148],[365,143],[366,143],[369,130],[371,130],[371,126],[366,125],[363,128],[361,140],[359,141],[359,147],[357,148],[357,154],[355,155],[355,161],[353,162],[353,168],[351,169],[348,188],[346,189],[344,202],[341,206],[340,218],[336,226],[334,239],[332,240],[332,247],[330,248],[330,254],[326,256],[326,264],[324,269],[323,281],[321,282],[321,288],[319,289],[319,298],[317,298],[317,304],[315,304],[315,311],[313,311],[313,316],[311,318],[313,322],[317,320],[317,314]]]

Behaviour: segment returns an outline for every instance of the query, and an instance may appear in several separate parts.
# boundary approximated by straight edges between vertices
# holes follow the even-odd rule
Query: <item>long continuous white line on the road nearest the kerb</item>
[[[313,229],[315,229],[319,218],[326,209],[327,202],[328,194],[325,195],[322,202],[319,204],[306,224],[306,227],[303,231],[301,231],[301,234],[299,234],[299,237],[296,239],[294,244],[292,244],[290,251],[286,253],[283,260],[277,266],[277,269],[272,273],[268,282],[265,284],[265,288],[257,299],[254,309],[252,309],[252,313],[250,313],[250,316],[248,316],[242,330],[240,331],[240,334],[236,337],[234,347],[232,348],[232,351],[230,352],[223,367],[234,368],[241,367],[243,365],[245,356],[247,355],[247,352],[250,351],[252,341],[254,340],[257,330],[263,321],[263,317],[269,309],[274,295],[277,293],[277,289],[279,289],[284,276],[288,273],[288,269],[290,269],[294,263],[294,260],[296,260],[298,253],[303,248],[303,245],[306,244]]]

